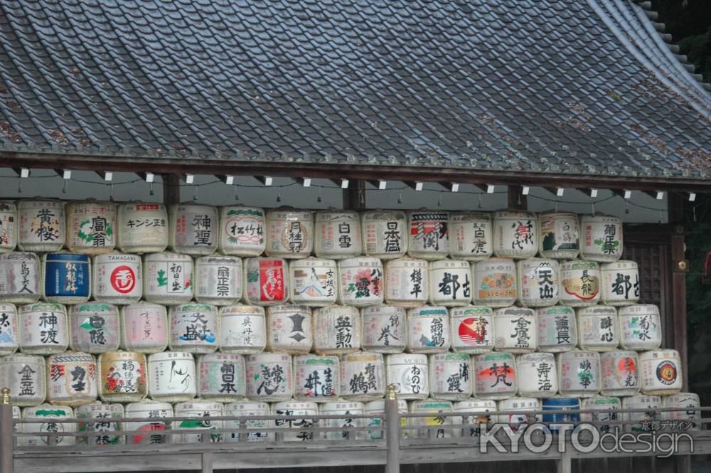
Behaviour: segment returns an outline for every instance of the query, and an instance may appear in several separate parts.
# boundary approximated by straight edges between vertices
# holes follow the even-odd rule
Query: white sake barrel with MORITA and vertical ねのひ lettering
[[[427,355],[401,353],[385,356],[385,381],[388,386],[395,386],[399,398],[427,399],[429,396]]]

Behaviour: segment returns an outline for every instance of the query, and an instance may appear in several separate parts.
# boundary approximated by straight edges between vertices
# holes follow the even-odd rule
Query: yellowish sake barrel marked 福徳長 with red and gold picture
[[[99,355],[99,395],[106,403],[131,403],[148,393],[146,356],[133,351]]]

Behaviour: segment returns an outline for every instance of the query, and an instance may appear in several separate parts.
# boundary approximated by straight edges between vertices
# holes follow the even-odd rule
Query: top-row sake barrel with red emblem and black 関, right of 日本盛
[[[449,254],[449,213],[422,209],[410,212],[407,254],[422,260],[441,260]]]

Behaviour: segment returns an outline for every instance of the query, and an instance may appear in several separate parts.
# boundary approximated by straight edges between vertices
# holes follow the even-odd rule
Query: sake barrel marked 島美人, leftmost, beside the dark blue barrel
[[[40,259],[35,253],[0,255],[0,300],[31,304],[40,299]]]

